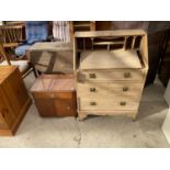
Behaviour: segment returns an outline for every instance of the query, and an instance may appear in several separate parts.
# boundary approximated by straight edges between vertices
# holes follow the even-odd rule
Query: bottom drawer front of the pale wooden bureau
[[[137,110],[139,102],[132,99],[116,98],[116,99],[79,99],[79,109],[89,111],[125,111]]]

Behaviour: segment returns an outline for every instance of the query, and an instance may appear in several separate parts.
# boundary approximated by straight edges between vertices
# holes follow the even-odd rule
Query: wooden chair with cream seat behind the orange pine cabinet
[[[22,78],[25,78],[27,75],[30,75],[32,71],[34,72],[35,78],[37,77],[37,72],[34,68],[34,66],[29,61],[29,60],[10,60],[9,56],[5,53],[5,49],[2,45],[2,43],[0,43],[0,66],[4,66],[4,65],[13,65],[13,66],[18,66],[19,70],[22,75]]]

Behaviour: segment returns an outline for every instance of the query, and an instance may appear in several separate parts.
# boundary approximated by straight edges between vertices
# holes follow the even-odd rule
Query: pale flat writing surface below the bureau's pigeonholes
[[[80,69],[141,68],[135,50],[82,52]]]

